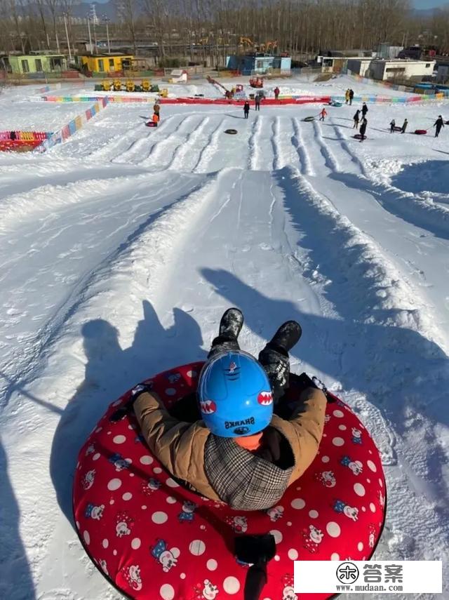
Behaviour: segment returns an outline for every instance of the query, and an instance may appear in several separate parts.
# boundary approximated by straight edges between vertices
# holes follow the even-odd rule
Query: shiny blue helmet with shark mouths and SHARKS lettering
[[[223,352],[206,362],[198,396],[203,421],[217,436],[253,435],[272,420],[273,394],[267,373],[246,352]]]

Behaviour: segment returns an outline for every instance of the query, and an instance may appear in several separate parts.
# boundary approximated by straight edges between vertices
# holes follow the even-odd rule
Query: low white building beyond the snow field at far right
[[[387,79],[422,79],[431,76],[434,72],[435,60],[382,60],[366,58],[352,58],[348,60],[348,69],[358,75],[370,77],[380,81]]]

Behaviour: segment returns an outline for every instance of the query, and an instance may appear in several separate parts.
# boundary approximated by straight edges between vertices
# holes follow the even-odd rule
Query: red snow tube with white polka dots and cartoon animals
[[[147,382],[169,408],[196,390],[201,366],[180,366]],[[293,385],[289,394],[290,400],[297,397]],[[360,420],[336,397],[328,403],[314,462],[266,512],[234,511],[178,485],[142,441],[134,414],[109,420],[129,398],[126,392],[109,406],[81,448],[73,489],[84,549],[128,598],[243,599],[248,565],[233,554],[242,533],[271,532],[276,540],[264,599],[297,599],[298,557],[366,560],[373,554],[385,514],[380,455]],[[330,596],[301,594],[301,600]]]

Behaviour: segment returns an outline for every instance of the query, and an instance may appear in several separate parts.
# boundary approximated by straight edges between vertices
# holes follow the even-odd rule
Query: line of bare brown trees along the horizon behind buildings
[[[265,44],[291,55],[328,49],[420,44],[449,52],[449,8],[422,16],[409,0],[114,0],[111,36],[157,44],[159,58],[192,59]],[[87,20],[72,19],[74,0],[0,0],[0,51],[66,51],[86,38]],[[66,15],[64,19],[62,15]],[[67,24],[67,33],[65,31]],[[104,29],[101,30],[104,36]],[[136,51],[137,53],[137,51]]]

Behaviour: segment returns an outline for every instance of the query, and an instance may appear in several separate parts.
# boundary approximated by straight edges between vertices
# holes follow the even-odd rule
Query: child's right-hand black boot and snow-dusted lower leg
[[[299,342],[302,329],[296,321],[286,321],[259,354],[259,362],[265,369],[272,386],[274,403],[288,389],[290,360],[288,352]]]

